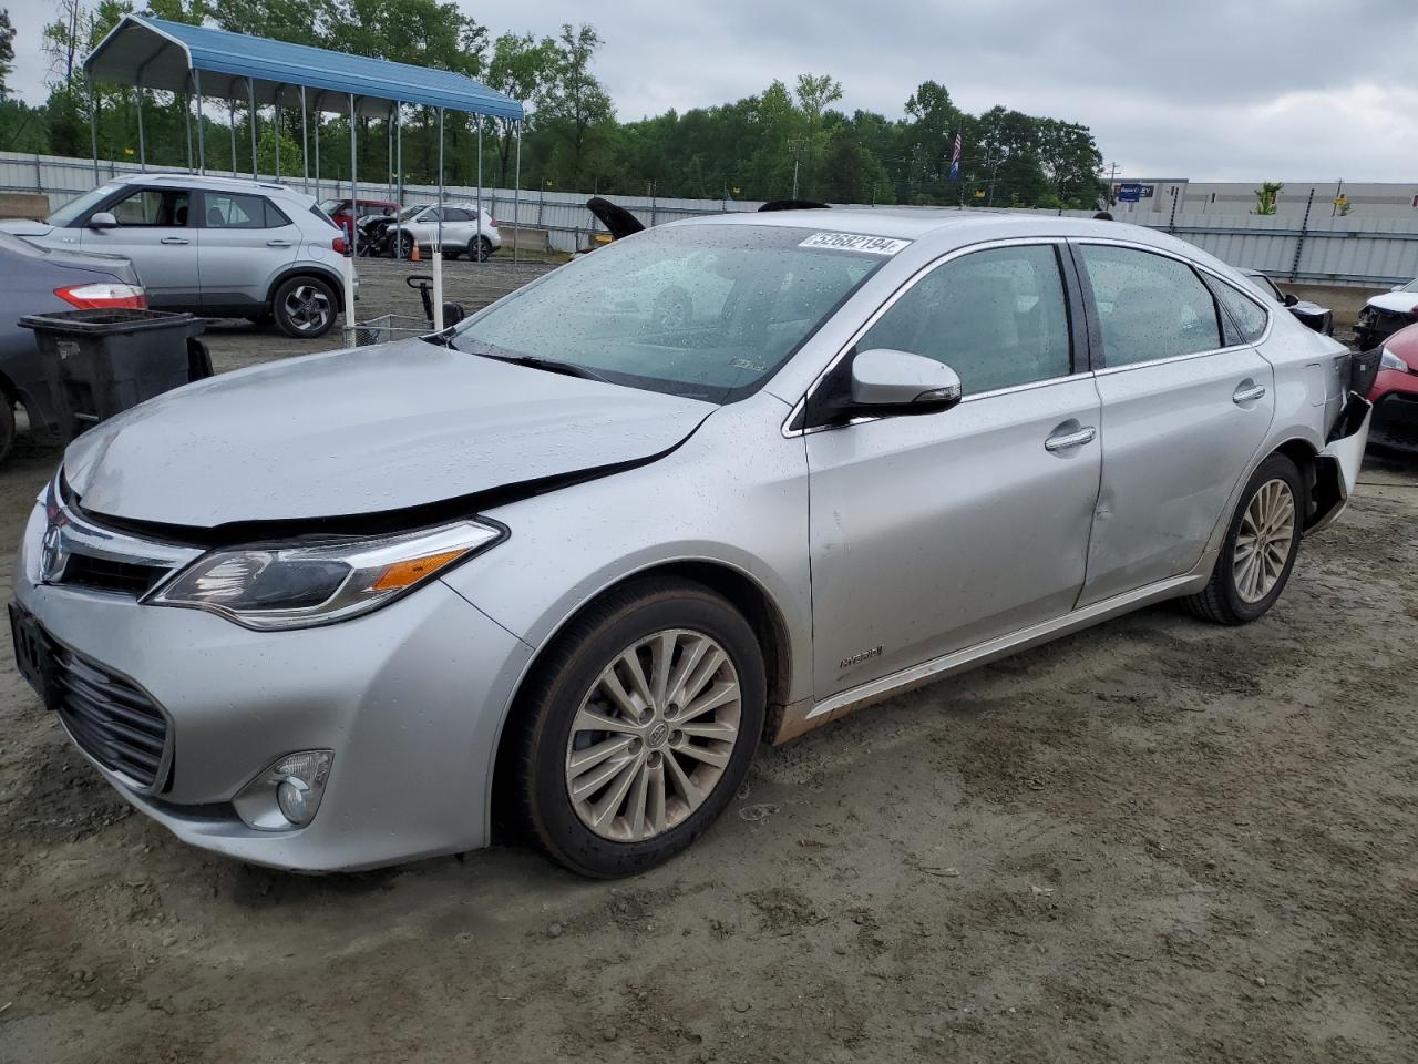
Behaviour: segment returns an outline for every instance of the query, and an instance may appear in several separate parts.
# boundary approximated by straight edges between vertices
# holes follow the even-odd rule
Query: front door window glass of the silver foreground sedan
[[[916,282],[856,342],[950,366],[964,394],[1066,377],[1068,302],[1051,244],[974,251]]]

